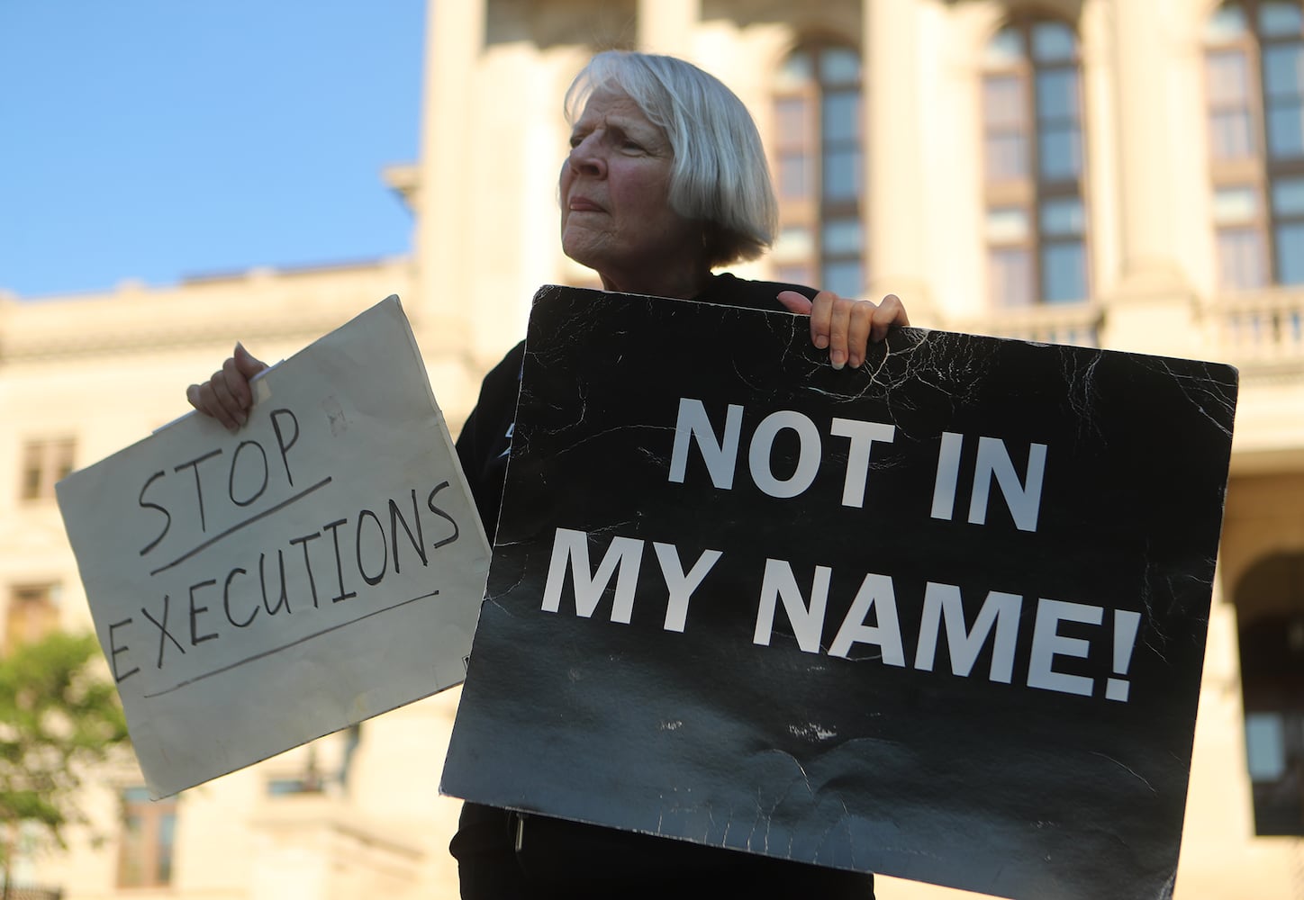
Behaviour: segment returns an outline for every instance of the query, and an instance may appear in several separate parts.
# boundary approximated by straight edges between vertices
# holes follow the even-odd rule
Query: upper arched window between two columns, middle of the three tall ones
[[[1086,300],[1078,43],[1059,21],[1011,21],[987,46],[983,154],[996,306]]]

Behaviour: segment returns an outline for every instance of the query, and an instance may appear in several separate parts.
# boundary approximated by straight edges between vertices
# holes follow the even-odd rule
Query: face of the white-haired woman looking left
[[[699,267],[702,228],[670,208],[674,154],[626,94],[597,91],[562,165],[562,249],[609,290],[665,293],[666,275]]]

